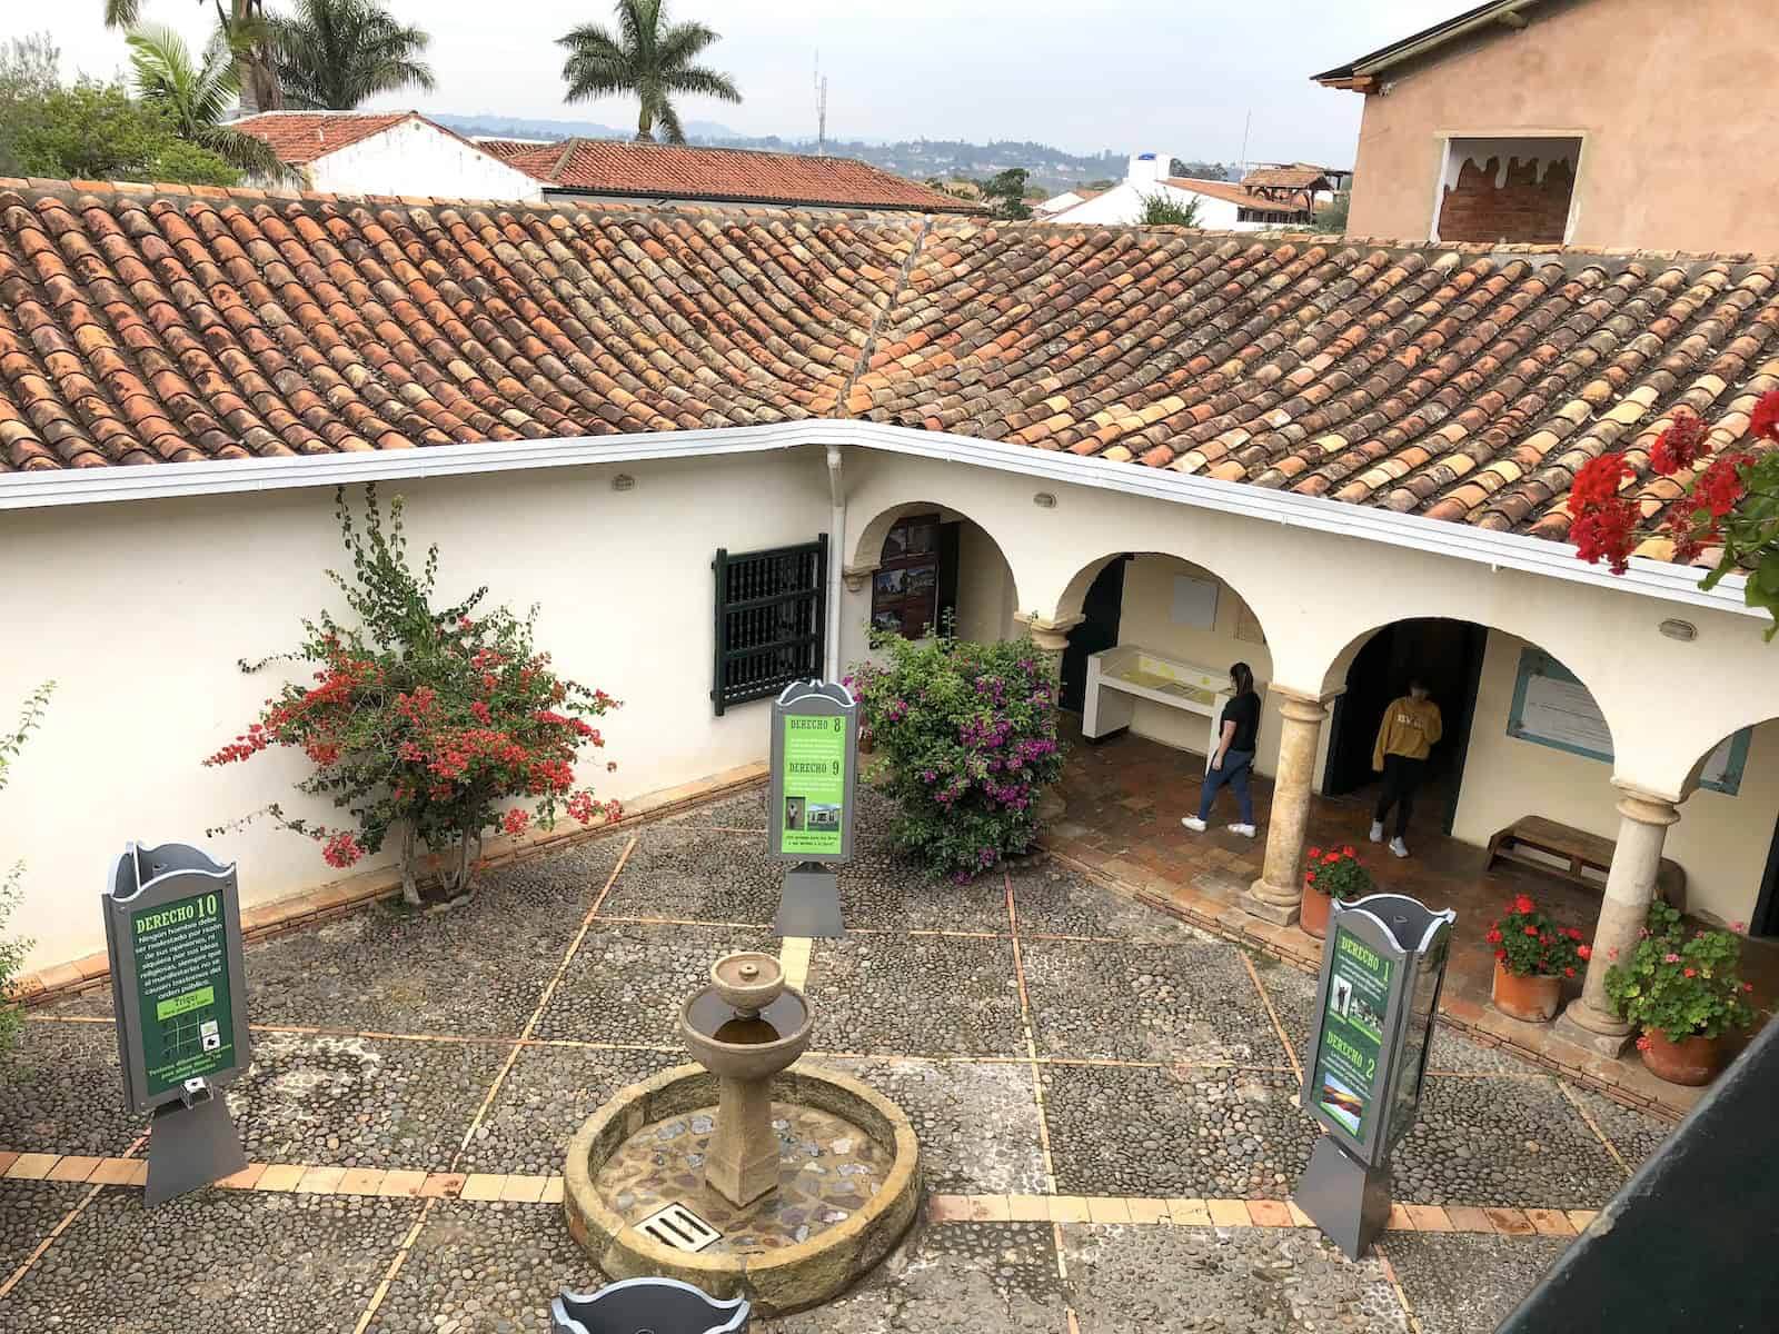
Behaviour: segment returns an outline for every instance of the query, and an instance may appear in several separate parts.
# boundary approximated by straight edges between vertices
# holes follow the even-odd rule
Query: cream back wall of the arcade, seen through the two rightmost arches
[[[1487,843],[1525,815],[1617,838],[1612,767],[1507,735],[1519,653],[1526,642],[1491,633],[1477,685],[1477,715],[1464,759],[1464,786],[1452,832]],[[1685,708],[1685,704],[1681,704]],[[1701,788],[1679,808],[1663,854],[1686,872],[1686,907],[1729,923],[1747,920],[1767,870],[1779,816],[1779,722],[1754,729],[1735,795]]]

